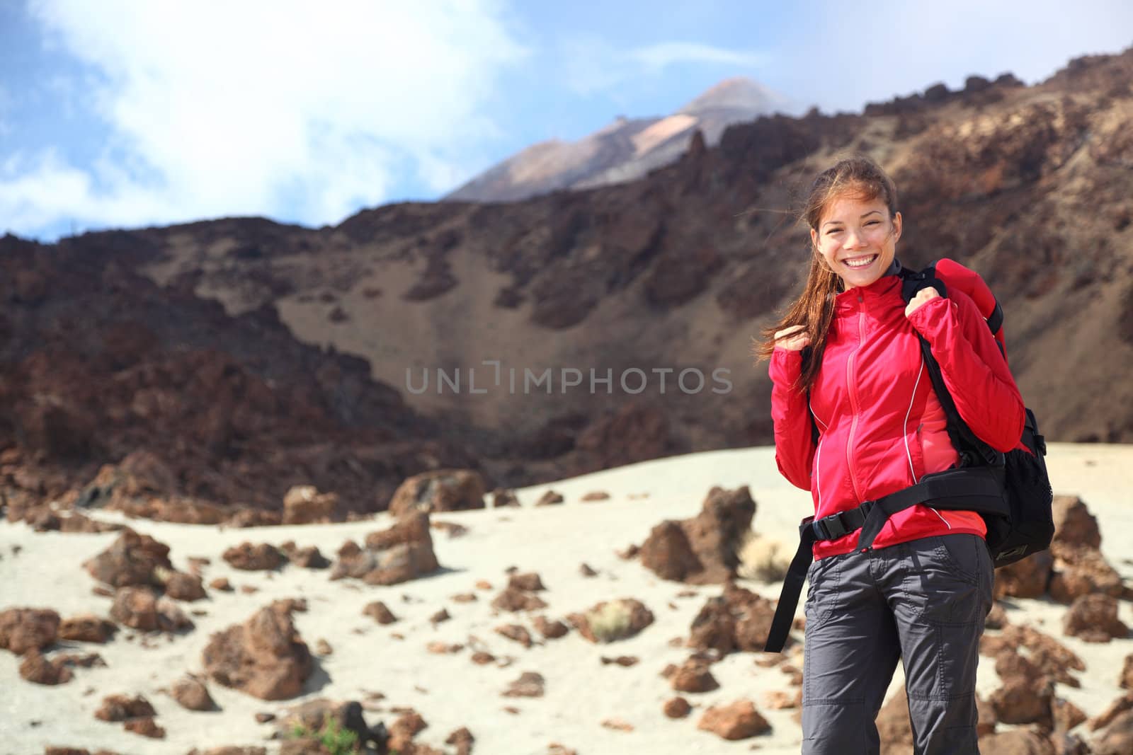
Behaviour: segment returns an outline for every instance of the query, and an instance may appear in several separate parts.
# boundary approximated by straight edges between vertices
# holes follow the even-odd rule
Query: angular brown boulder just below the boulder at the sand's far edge
[[[352,546],[352,547],[351,547]],[[433,552],[428,514],[408,514],[387,530],[366,535],[366,547],[347,543],[331,570],[332,580],[353,577],[366,584],[390,585],[440,568]]]

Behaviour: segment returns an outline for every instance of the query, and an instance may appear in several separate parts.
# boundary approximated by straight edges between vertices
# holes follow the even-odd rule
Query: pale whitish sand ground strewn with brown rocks
[[[1133,580],[1133,446],[1051,444],[1048,465],[1056,492],[1080,495],[1097,515],[1102,530],[1101,549],[1126,580]],[[176,753],[191,747],[229,744],[261,744],[271,724],[258,724],[259,711],[281,712],[287,703],[255,700],[219,684],[210,692],[222,709],[195,713],[181,709],[159,692],[186,671],[202,671],[201,653],[213,632],[242,621],[273,599],[301,597],[310,610],[296,614],[297,627],[314,647],[326,638],[333,654],[318,661],[320,670],[299,700],[326,696],[361,700],[367,690],[386,695],[367,711],[374,723],[395,718],[390,706],[412,706],[429,727],[419,741],[441,746],[452,730],[467,726],[476,737],[474,752],[482,755],[544,754],[550,743],[562,743],[579,755],[606,753],[747,753],[767,755],[798,753],[800,729],[792,711],[767,710],[763,695],[768,690],[791,690],[778,669],[755,664],[761,654],[736,653],[713,667],[721,688],[685,695],[695,705],[684,720],[670,720],[662,704],[672,697],[659,674],[667,663],[684,660],[688,649],[670,646],[673,637],[687,637],[692,618],[705,599],[719,594],[718,586],[693,587],[696,598],[679,598],[687,585],[657,578],[637,560],[625,561],[615,550],[641,543],[651,526],[665,518],[693,516],[712,486],[734,488],[747,484],[758,509],[753,529],[782,538],[793,550],[795,525],[810,509],[809,494],[786,483],[775,469],[770,448],[723,451],[645,462],[518,491],[522,507],[485,509],[436,515],[440,521],[469,527],[466,535],[450,538],[434,531],[435,550],[444,570],[440,574],[389,587],[366,586],[355,581],[331,582],[326,570],[286,566],[280,573],[246,573],[221,559],[229,546],[244,540],[280,544],[295,540],[299,546],[317,546],[333,557],[348,538],[360,541],[366,533],[384,529],[385,515],[348,524],[220,530],[218,527],[131,521],[130,526],[148,533],[171,548],[170,557],[180,569],[187,559],[211,559],[204,577],[227,576],[233,585],[255,585],[255,594],[210,591],[207,600],[182,604],[203,609],[194,616],[196,629],[172,638],[159,637],[155,646],[139,646],[122,630],[107,645],[74,644],[76,650],[99,652],[105,668],[76,669],[70,683],[49,687],[24,681],[17,672],[18,659],[0,652],[0,754],[42,753],[45,745],[105,747],[119,753]],[[547,489],[565,497],[560,506],[534,507]],[[591,490],[605,490],[612,498],[582,503]],[[112,514],[102,514],[108,520]],[[63,617],[80,612],[107,616],[110,600],[92,594],[94,580],[80,564],[109,546],[116,533],[34,533],[23,524],[0,523],[0,609],[17,606],[53,608]],[[19,546],[19,552],[14,552]],[[579,565],[589,564],[596,577],[583,577]],[[594,645],[576,632],[525,650],[493,632],[508,623],[530,627],[523,615],[493,615],[492,598],[506,584],[505,568],[539,573],[550,603],[542,611],[551,618],[586,609],[613,598],[631,597],[646,603],[656,623],[637,637],[610,645]],[[476,590],[487,580],[493,590]],[[770,598],[777,584],[742,581],[744,586]],[[457,593],[477,592],[479,600],[460,603]],[[363,607],[383,600],[400,621],[378,626],[361,615]],[[1058,694],[1094,715],[1122,690],[1117,676],[1124,658],[1133,653],[1133,640],[1089,644],[1062,635],[1065,608],[1048,601],[1013,601],[1013,623],[1028,623],[1053,634],[1079,653],[1088,664],[1080,674],[1080,689],[1059,686]],[[446,608],[452,619],[435,627],[429,617]],[[801,614],[801,607],[800,607]],[[1123,602],[1121,617],[1133,626],[1133,606]],[[404,640],[392,635],[402,634]],[[514,661],[506,668],[477,666],[469,658],[471,637],[497,658]],[[533,636],[539,635],[534,632]],[[465,644],[454,654],[434,654],[426,644],[434,641]],[[475,641],[472,641],[475,642]],[[630,668],[604,666],[602,655],[637,655]],[[801,660],[801,659],[800,659]],[[522,671],[538,671],[546,679],[542,698],[508,698],[501,693]],[[901,671],[894,680],[900,684]],[[986,659],[980,668],[980,689],[990,693],[998,685]],[[892,690],[891,690],[892,692]],[[122,730],[121,724],[99,721],[93,713],[104,695],[144,694],[157,710],[157,722],[167,730],[164,740],[150,740]],[[700,713],[715,703],[751,698],[770,721],[770,735],[725,741],[699,731]],[[516,706],[518,714],[504,711]],[[620,719],[632,731],[604,728],[603,720]]]

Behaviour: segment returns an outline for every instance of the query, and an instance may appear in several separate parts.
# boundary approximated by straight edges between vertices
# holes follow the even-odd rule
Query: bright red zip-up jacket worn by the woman
[[[928,340],[956,410],[991,447],[1015,448],[1023,400],[987,323],[960,291],[931,299],[905,317],[901,278],[886,275],[835,299],[823,364],[810,392],[795,391],[798,351],[770,360],[775,461],[793,484],[810,490],[816,518],[908,488],[959,458],[925,369],[917,332]],[[917,331],[914,332],[913,328]],[[821,435],[811,439],[810,412]],[[930,535],[987,529],[974,512],[917,505],[889,517],[874,542],[884,548]],[[815,543],[815,558],[853,550],[858,531]]]

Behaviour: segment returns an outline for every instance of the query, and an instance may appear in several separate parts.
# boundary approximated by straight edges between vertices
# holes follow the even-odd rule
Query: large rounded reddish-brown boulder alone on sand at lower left
[[[312,672],[310,651],[290,612],[278,607],[214,634],[203,662],[213,680],[259,700],[295,697]]]

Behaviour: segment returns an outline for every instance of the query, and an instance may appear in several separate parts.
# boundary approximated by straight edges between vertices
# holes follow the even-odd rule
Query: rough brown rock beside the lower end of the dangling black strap
[[[774,616],[769,600],[727,582],[723,594],[709,598],[692,620],[688,644],[722,653],[760,652]]]

